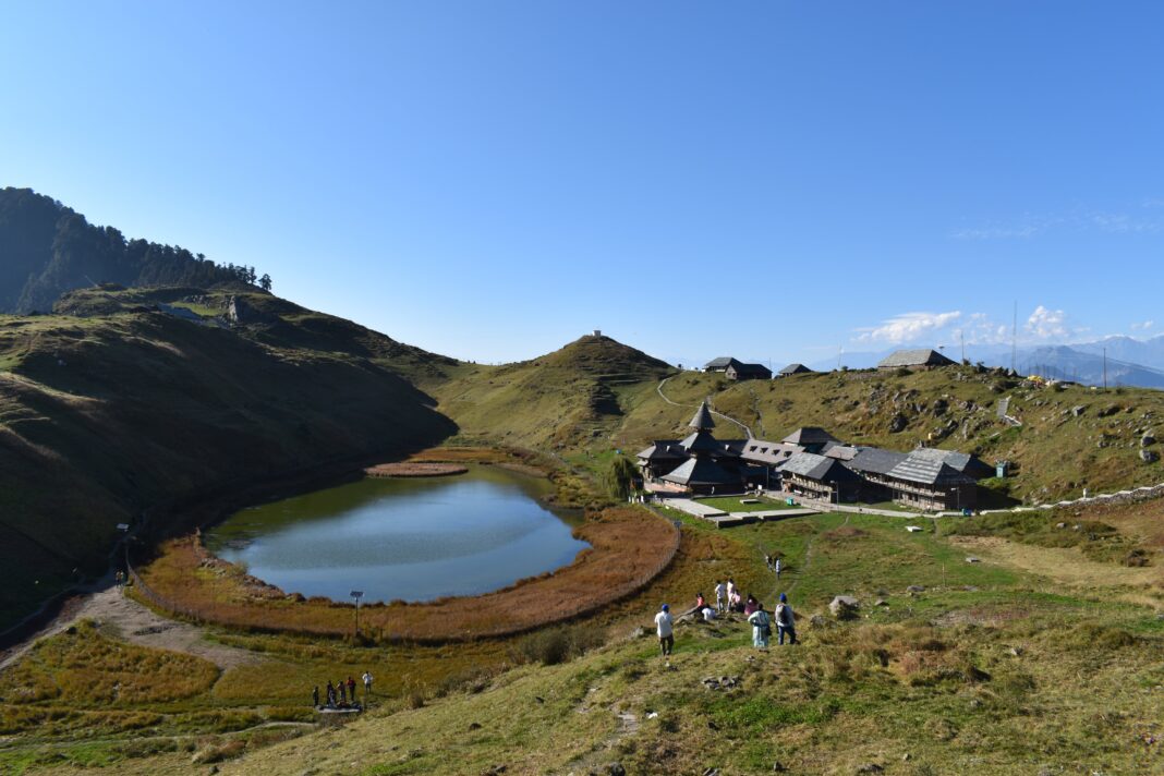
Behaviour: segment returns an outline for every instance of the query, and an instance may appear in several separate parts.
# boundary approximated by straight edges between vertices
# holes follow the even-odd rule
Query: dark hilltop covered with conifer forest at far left
[[[98,227],[31,188],[0,190],[0,313],[48,312],[61,294],[98,283],[199,286],[243,282],[270,290],[253,266]]]

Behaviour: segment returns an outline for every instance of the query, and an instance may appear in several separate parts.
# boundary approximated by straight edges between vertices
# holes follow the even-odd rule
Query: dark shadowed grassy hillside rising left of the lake
[[[104,569],[143,510],[455,432],[400,377],[448,359],[262,293],[235,296],[234,327],[154,309],[229,297],[92,290],[0,316],[0,624]]]

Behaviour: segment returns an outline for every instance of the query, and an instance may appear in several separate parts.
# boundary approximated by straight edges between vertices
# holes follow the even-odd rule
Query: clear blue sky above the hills
[[[7,2],[0,185],[476,361],[1164,330],[1158,2]],[[1157,321],[1158,322],[1155,322]]]

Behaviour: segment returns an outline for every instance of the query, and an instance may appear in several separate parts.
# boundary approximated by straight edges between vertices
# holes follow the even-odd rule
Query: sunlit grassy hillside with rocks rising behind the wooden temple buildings
[[[1027,501],[1164,482],[1164,465],[1141,458],[1145,434],[1164,430],[1164,392],[1150,389],[1046,387],[996,370],[957,366],[930,372],[872,370],[797,375],[732,384],[718,375],[667,371],[617,343],[619,379],[596,379],[581,358],[584,337],[542,358],[499,368],[462,365],[426,384],[462,433],[594,460],[654,439],[682,437],[698,403],[779,440],[800,426],[822,426],[854,443],[910,450],[918,443],[972,451],[993,464],[1008,460],[1014,477],[995,483]],[[631,364],[638,365],[632,370]],[[659,394],[662,387],[669,404]],[[638,378],[638,379],[636,379]],[[1022,421],[998,415],[1001,399]],[[744,432],[717,420],[722,439]],[[1147,449],[1156,451],[1159,444]]]

